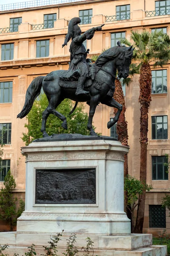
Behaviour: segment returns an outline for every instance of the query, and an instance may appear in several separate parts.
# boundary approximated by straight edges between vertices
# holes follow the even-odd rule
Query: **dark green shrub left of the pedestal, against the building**
[[[17,223],[17,218],[23,212],[25,204],[23,200],[20,200],[20,208],[16,210],[17,198],[14,198],[12,193],[16,183],[10,171],[8,171],[3,184],[5,187],[0,190],[0,219],[6,220],[12,230]]]

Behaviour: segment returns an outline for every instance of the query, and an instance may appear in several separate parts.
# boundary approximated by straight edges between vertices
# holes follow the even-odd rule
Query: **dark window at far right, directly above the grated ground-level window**
[[[167,157],[152,157],[152,180],[168,180]]]

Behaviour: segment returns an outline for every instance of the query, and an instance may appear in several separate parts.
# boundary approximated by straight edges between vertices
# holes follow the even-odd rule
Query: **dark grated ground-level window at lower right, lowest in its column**
[[[152,207],[155,207],[155,208],[158,208],[158,209],[162,209],[162,215],[164,214],[164,222],[162,221],[163,220],[163,218],[160,218],[160,217],[158,217],[157,215],[159,214],[159,213],[157,213],[157,214],[155,214],[154,212],[152,213],[152,215],[151,215],[151,208]],[[153,211],[153,209],[152,209],[152,211]],[[164,211],[164,212],[163,212]],[[161,226],[161,224],[158,224],[158,225],[156,225],[156,224],[154,224],[154,221],[153,221],[153,218],[157,218],[159,221],[161,220],[162,221],[162,223],[164,224],[164,226],[162,227]],[[149,205],[149,227],[150,228],[166,228],[166,209],[165,208],[163,208],[163,207],[161,207],[161,205],[153,205],[153,204],[151,204],[151,205]]]

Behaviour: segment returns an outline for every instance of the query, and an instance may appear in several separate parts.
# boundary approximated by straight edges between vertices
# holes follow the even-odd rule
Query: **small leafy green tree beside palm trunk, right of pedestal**
[[[149,192],[152,189],[152,186],[147,184],[144,185],[144,183],[142,183],[140,180],[137,180],[135,177],[127,175],[125,177],[124,189],[127,195],[127,208],[130,210],[132,215],[132,233],[134,233],[134,210],[140,203],[139,195],[142,195],[144,190]]]

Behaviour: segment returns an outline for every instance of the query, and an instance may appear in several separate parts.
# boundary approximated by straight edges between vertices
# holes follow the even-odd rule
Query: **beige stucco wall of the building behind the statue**
[[[116,6],[130,4],[130,20],[106,22],[106,16],[116,15]],[[28,10],[19,10],[13,12],[0,12],[0,24],[3,27],[9,27],[9,19],[13,17],[22,17],[22,24],[19,26],[19,32],[0,34],[0,59],[1,44],[14,43],[14,60],[0,61],[0,81],[13,81],[12,103],[0,104],[0,123],[11,122],[12,134],[11,145],[4,147],[4,159],[11,159],[11,172],[15,177],[17,188],[16,192],[25,191],[25,157],[21,156],[20,147],[24,145],[20,137],[26,132],[24,124],[26,118],[16,119],[23,107],[25,93],[32,79],[36,76],[46,75],[53,70],[68,69],[69,46],[62,48],[65,35],[68,30],[68,20],[79,16],[79,10],[93,9],[92,23],[80,25],[82,32],[93,26],[99,26],[105,23],[102,32],[96,32],[94,38],[87,42],[87,48],[90,54],[100,54],[103,48],[111,47],[112,32],[126,32],[126,38],[130,38],[130,31],[146,29],[150,31],[155,27],[167,27],[167,33],[170,34],[170,16],[145,17],[144,0],[112,0],[112,1],[87,1],[82,3],[60,4],[58,6],[47,6],[42,8],[32,8]],[[154,0],[145,1],[145,10],[155,9]],[[54,22],[54,28],[32,30],[32,24],[43,23],[43,15],[57,13],[57,21]],[[1,25],[2,27],[2,25]],[[36,58],[36,40],[50,40],[49,57]],[[148,132],[148,153],[147,153],[147,183],[152,184],[153,191],[147,193],[146,216],[144,222],[144,232],[158,232],[148,230],[148,205],[161,204],[160,195],[170,190],[170,177],[166,181],[153,181],[151,177],[151,156],[170,154],[170,140],[152,140],[151,139],[151,116],[167,115],[169,120],[170,105],[170,83],[169,83],[169,65],[167,69],[167,90],[168,93],[152,95],[152,102],[149,111],[149,132]],[[128,134],[130,151],[128,154],[129,173],[139,178],[140,169],[140,106],[139,98],[139,76],[136,76],[129,88],[126,88],[126,119],[128,122]],[[89,107],[85,104],[86,111]],[[108,106],[97,106],[94,116],[94,126],[96,131],[103,135],[110,135],[107,128],[107,122],[113,117],[113,109]],[[170,125],[168,121],[168,138],[170,138]],[[19,160],[19,162],[18,162]],[[18,164],[17,164],[18,163]],[[0,182],[0,187],[2,182]],[[168,216],[168,212],[167,212]],[[167,223],[169,218],[167,217]],[[170,233],[170,226],[167,225],[167,231]]]

